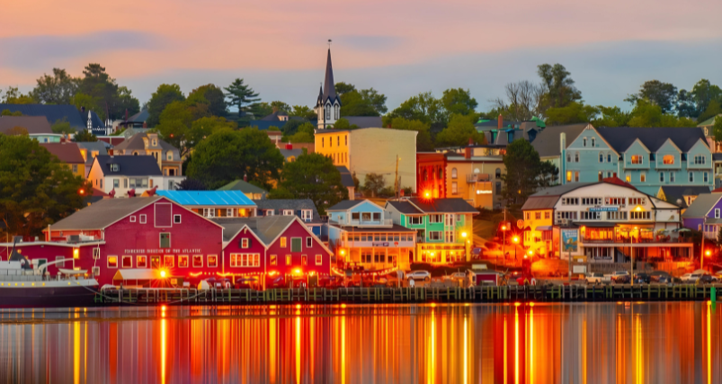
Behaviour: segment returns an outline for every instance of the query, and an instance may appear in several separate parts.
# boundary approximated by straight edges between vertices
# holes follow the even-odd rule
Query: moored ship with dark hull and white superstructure
[[[67,259],[58,260],[60,263]],[[85,272],[70,270],[49,276],[47,266],[33,268],[31,262],[15,251],[8,261],[0,261],[0,308],[91,307],[98,281]]]

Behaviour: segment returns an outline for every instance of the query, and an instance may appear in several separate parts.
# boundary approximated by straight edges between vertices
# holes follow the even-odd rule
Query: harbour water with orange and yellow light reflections
[[[0,382],[719,383],[705,302],[0,312]]]

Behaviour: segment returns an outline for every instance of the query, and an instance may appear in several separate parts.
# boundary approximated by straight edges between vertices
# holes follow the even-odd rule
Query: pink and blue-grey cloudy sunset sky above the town
[[[30,91],[53,67],[97,62],[145,103],[157,86],[245,79],[263,101],[313,106],[327,40],[336,82],[407,98],[571,72],[584,101],[618,105],[646,80],[722,85],[719,0],[23,0],[4,4],[0,87]]]

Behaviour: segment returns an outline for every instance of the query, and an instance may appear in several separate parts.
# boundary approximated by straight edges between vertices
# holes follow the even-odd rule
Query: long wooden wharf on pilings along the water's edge
[[[722,284],[614,284],[606,286],[477,286],[469,288],[297,288],[269,290],[196,290],[130,288],[103,290],[95,303],[103,305],[228,305],[289,303],[423,303],[423,302],[595,302],[595,301],[716,301]]]

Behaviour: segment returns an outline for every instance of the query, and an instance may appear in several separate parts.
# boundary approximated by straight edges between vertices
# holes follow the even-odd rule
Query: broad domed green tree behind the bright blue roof
[[[251,128],[220,129],[194,148],[187,175],[211,190],[244,176],[271,189],[282,165],[281,151],[265,132]]]

